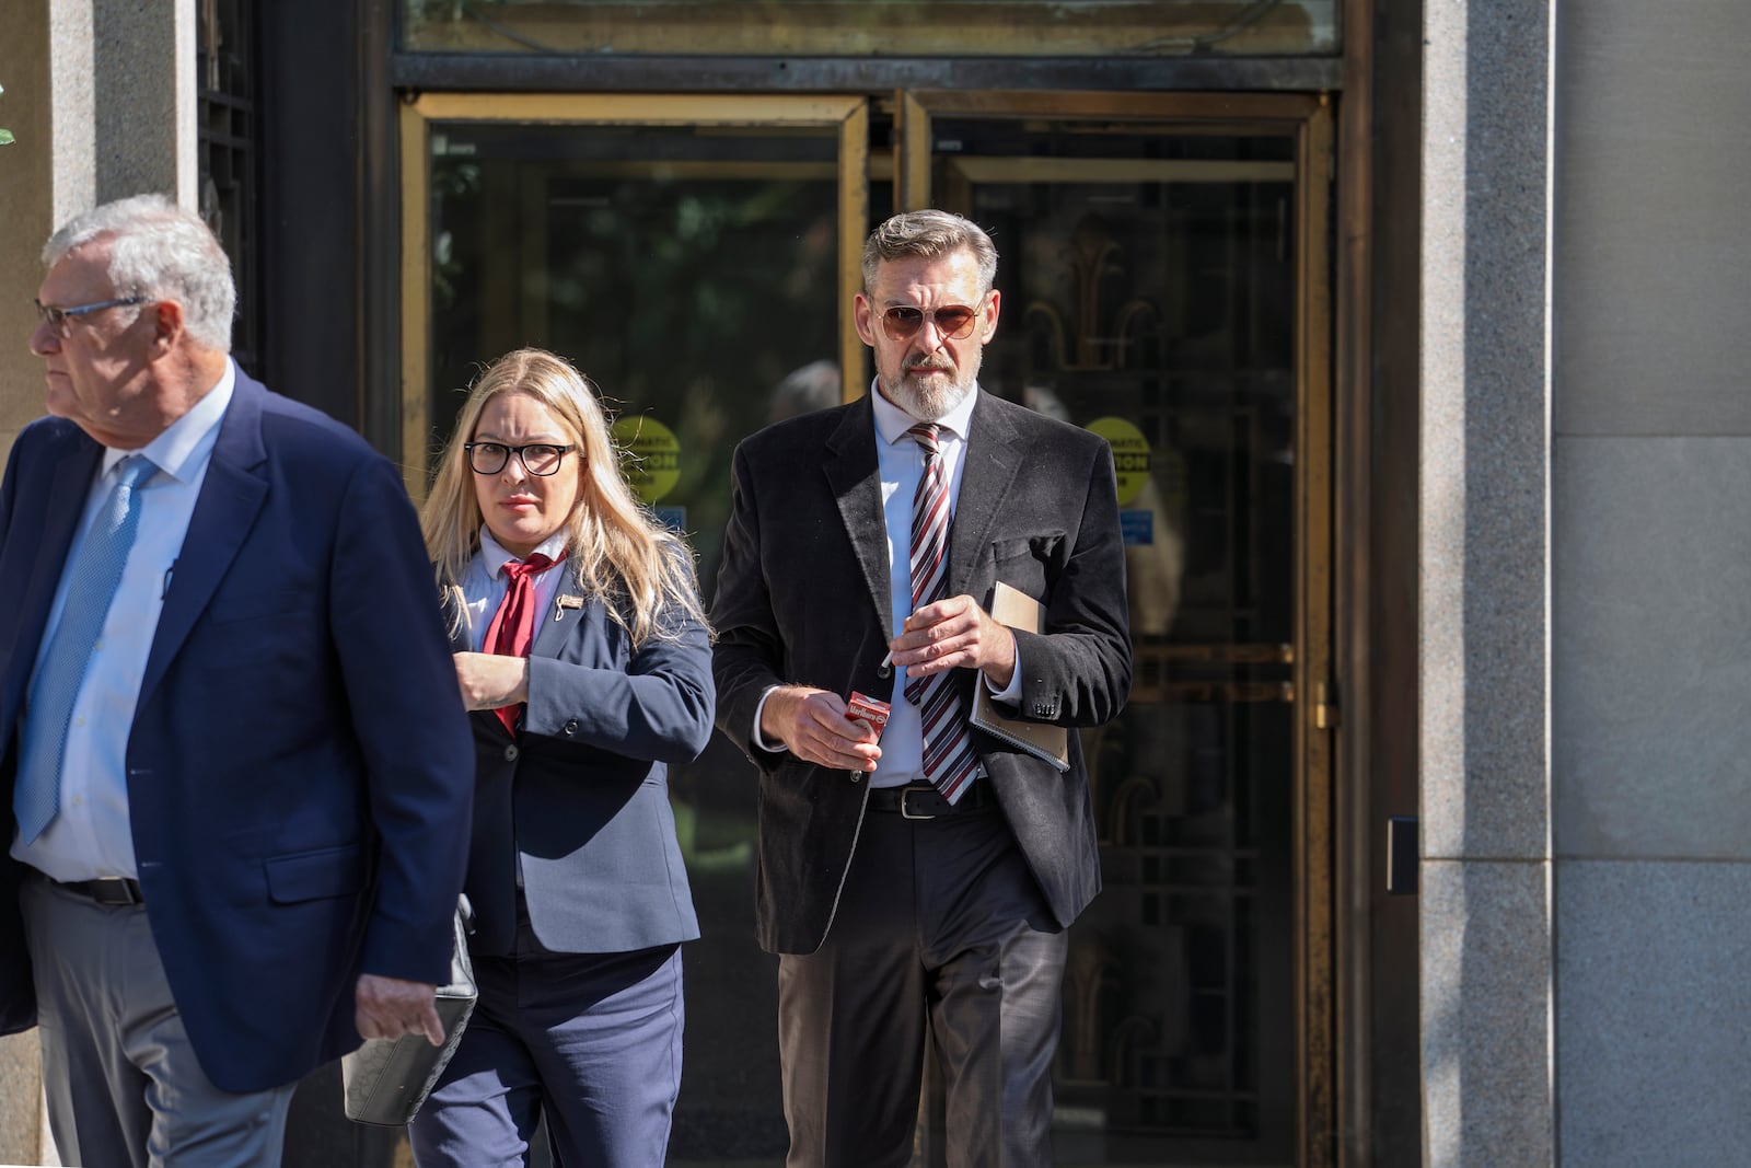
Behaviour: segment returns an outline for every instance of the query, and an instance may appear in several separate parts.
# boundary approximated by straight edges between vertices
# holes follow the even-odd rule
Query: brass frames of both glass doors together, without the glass
[[[1297,217],[1297,457],[1294,774],[1297,1163],[1338,1163],[1338,1031],[1334,949],[1336,672],[1333,522],[1333,254],[1329,238],[1333,110],[1326,95],[898,91],[895,205],[930,205],[933,117],[1058,117],[1173,123],[1182,133],[1287,135],[1296,142]],[[868,385],[867,354],[851,313],[861,289],[868,226],[868,98],[744,95],[506,95],[425,93],[401,107],[401,434],[408,490],[425,494],[429,447],[429,133],[432,123],[613,126],[828,126],[839,135],[839,296],[842,396]],[[886,159],[874,159],[886,170]],[[1212,165],[1205,163],[1201,168]],[[1217,165],[1220,166],[1220,165]],[[1187,175],[1191,177],[1191,175]],[[1248,173],[1219,173],[1236,180]],[[1264,177],[1262,173],[1257,177]],[[1273,175],[1275,177],[1275,172]],[[1354,1019],[1352,1019],[1354,1026]],[[1348,1033],[1348,1031],[1347,1031]],[[1352,1042],[1348,1033],[1345,1042]],[[1354,1061],[1354,1054],[1350,1056]]]

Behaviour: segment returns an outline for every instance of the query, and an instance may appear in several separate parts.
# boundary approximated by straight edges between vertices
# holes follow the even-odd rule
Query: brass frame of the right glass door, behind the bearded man
[[[1294,967],[1296,1156],[1304,1168],[1338,1163],[1334,776],[1336,562],[1333,524],[1333,257],[1329,238],[1333,110],[1326,95],[907,91],[895,95],[895,205],[932,205],[932,119],[1100,119],[1175,123],[1177,131],[1287,135],[1296,184],[1296,704]],[[1157,165],[1159,166],[1159,165]],[[1208,165],[1205,165],[1208,166]],[[1238,165],[1227,165],[1234,168]],[[1189,172],[1192,173],[1192,172]],[[1240,175],[1210,175],[1234,180]]]

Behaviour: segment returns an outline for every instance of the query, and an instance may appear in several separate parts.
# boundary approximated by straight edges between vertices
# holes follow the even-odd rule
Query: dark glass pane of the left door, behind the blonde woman
[[[434,126],[432,443],[482,362],[520,345],[569,357],[618,412],[629,473],[688,534],[709,602],[734,443],[840,399],[835,133]],[[672,1152],[783,1157],[755,774],[714,735],[671,790],[704,930]]]

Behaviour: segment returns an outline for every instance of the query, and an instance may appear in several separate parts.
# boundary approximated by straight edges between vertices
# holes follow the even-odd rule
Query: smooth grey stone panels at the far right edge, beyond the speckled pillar
[[[1751,1143],[1747,56],[1744,5],[1557,9],[1565,1164],[1730,1164]]]

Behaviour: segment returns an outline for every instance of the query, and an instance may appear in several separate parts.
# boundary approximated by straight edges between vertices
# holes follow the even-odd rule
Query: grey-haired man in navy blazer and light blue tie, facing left
[[[159,196],[44,249],[0,483],[0,1030],[68,1164],[278,1164],[296,1082],[441,1038],[468,716],[396,468],[229,357]]]

